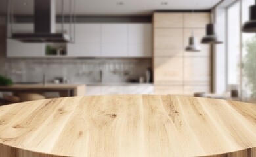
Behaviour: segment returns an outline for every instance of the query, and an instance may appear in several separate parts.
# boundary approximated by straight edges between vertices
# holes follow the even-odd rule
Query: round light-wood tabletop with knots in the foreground
[[[256,156],[256,105],[186,96],[64,97],[0,107],[0,156]]]

